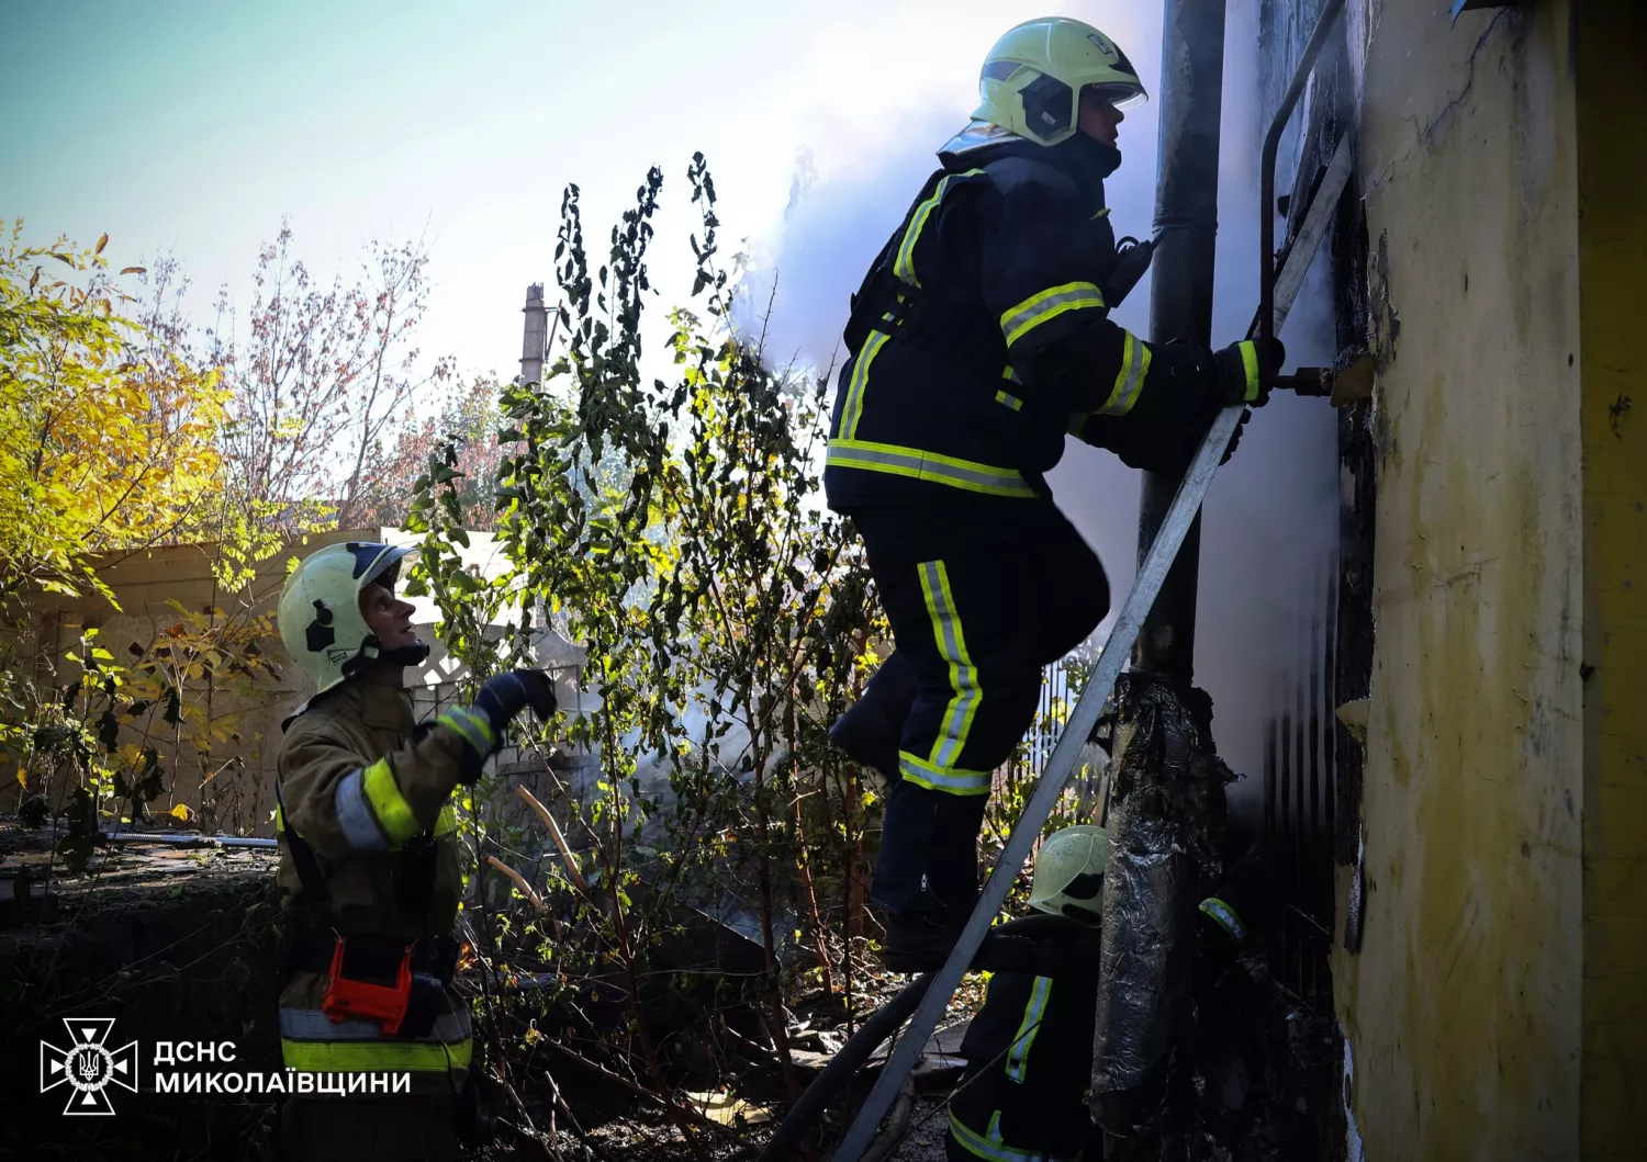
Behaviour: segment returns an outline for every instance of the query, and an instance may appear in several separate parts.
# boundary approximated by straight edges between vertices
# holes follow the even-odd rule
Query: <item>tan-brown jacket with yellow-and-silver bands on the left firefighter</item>
[[[405,690],[351,680],[287,723],[277,760],[277,882],[285,907],[306,900],[298,910],[315,913],[310,923],[298,925],[305,935],[315,928],[329,935],[336,927],[344,937],[364,933],[405,945],[451,937],[461,874],[448,798],[464,760],[460,732],[474,729],[453,714],[466,711],[448,711],[440,724],[418,727]],[[306,892],[292,833],[318,864],[323,909]],[[436,1002],[430,1030],[385,1037],[371,1020],[333,1022],[321,1011],[326,984],[326,973],[310,964],[295,971],[280,994],[287,1067],[408,1071],[413,1090],[450,1091],[463,1083],[471,1055],[469,1014],[450,988]]]

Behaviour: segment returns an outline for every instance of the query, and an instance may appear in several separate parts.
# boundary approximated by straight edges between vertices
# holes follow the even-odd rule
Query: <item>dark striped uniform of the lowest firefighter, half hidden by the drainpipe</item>
[[[950,1134],[970,1154],[1056,1162],[1087,1147],[1099,941],[1097,927],[1067,920],[1036,941],[1039,968],[990,978],[960,1043],[967,1070],[949,1103]]]

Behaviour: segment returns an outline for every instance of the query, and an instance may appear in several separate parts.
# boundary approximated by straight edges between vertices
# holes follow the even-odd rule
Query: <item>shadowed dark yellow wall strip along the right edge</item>
[[[1647,1155],[1647,100],[1640,5],[1576,5],[1584,1159]]]

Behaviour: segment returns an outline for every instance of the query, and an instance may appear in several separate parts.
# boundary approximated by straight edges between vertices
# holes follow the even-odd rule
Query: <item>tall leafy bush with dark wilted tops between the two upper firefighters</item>
[[[548,918],[481,910],[478,951],[494,964],[539,960],[567,992],[616,991],[623,1027],[604,1045],[614,1071],[649,1076],[692,1141],[690,1111],[670,1099],[680,1030],[656,1035],[652,1002],[672,989],[702,996],[705,986],[687,979],[693,974],[669,979],[654,953],[693,902],[725,892],[756,899],[764,971],[744,999],[766,1009],[796,1083],[782,1002],[796,978],[777,955],[787,941],[782,912],[794,907],[796,927],[810,930],[828,988],[820,887],[840,889],[830,899],[843,902],[850,932],[870,797],[856,770],[827,752],[824,724],[861,683],[878,622],[861,553],[815,507],[825,382],[771,370],[759,344],[731,329],[702,156],[688,179],[702,211],[692,239],[700,306],[672,314],[677,377],[641,370],[662,174],[647,174],[593,262],[570,186],[555,253],[560,342],[542,383],[512,383],[499,402],[504,569],[479,578],[456,551],[468,543],[463,497],[474,487],[456,439],[435,441],[408,527],[425,537],[410,591],[435,597],[436,634],[471,681],[529,663],[530,634],[547,617],[585,652],[580,680],[598,695],[532,741],[540,754],[581,751],[593,767],[578,793],[560,787],[550,803],[568,820],[581,872],[539,889],[520,877]],[[473,849],[529,851],[535,841],[489,810],[497,797],[488,780],[469,800],[479,808],[464,823]],[[474,867],[484,877],[488,862]],[[479,899],[489,899],[484,881]],[[542,937],[547,928],[560,935]],[[718,991],[700,1009],[702,1032],[730,999]],[[535,992],[499,1001],[491,1016],[509,1039],[529,1006],[553,1004],[553,994]],[[557,1022],[547,1007],[537,1016]]]

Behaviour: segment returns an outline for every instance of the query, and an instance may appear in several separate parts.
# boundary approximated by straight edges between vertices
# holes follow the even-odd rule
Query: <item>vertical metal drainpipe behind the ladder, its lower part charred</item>
[[[1217,234],[1224,2],[1166,0],[1155,194],[1150,339],[1207,344]],[[1138,556],[1155,540],[1181,472],[1145,472]],[[1215,871],[1224,764],[1212,704],[1192,688],[1201,520],[1191,527],[1140,632],[1113,724],[1113,843],[1103,877],[1103,951],[1092,1057],[1092,1116],[1105,1157],[1155,1157],[1171,1121],[1173,1047],[1186,1034],[1201,879]]]

